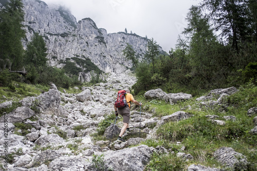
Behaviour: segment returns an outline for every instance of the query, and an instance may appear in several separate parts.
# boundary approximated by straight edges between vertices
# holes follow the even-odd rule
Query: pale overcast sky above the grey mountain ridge
[[[185,17],[199,0],[42,0],[61,4],[70,10],[77,22],[91,18],[107,33],[125,31],[153,38],[162,49],[175,48],[178,35],[187,26]]]

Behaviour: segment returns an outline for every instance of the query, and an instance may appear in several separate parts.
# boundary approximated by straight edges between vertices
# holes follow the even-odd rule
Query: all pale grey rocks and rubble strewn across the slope
[[[136,78],[130,71],[123,74],[112,73],[109,75],[107,83],[83,87],[83,91],[78,94],[69,94],[63,90],[58,90],[52,84],[51,89],[40,96],[21,100],[21,107],[17,107],[0,118],[0,153],[2,154],[0,161],[2,166],[8,166],[8,170],[43,171],[144,170],[154,152],[174,154],[174,151],[162,146],[154,148],[140,144],[145,139],[154,139],[155,130],[160,125],[193,117],[185,111],[177,111],[170,116],[156,118],[153,117],[152,113],[143,110],[140,113],[139,108],[134,107],[134,110],[131,111],[130,121],[132,132],[129,134],[134,135],[135,138],[120,143],[117,141],[109,142],[108,140],[96,141],[90,136],[97,132],[97,126],[104,120],[104,116],[113,113],[113,103],[117,96],[117,90],[131,88],[135,83]],[[221,104],[222,97],[229,96],[236,91],[234,87],[216,89],[208,96],[198,98],[197,101],[208,106]],[[213,93],[218,95],[217,101],[210,101]],[[156,89],[146,92],[145,98],[162,99],[173,104],[181,99],[190,99],[192,96],[186,93],[167,94],[161,89]],[[11,104],[12,102],[5,102],[0,104],[0,107],[8,107]],[[250,112],[256,113],[256,108],[251,109]],[[224,121],[219,121],[217,116],[207,117],[216,124],[224,124]],[[227,116],[227,119],[233,120],[234,118]],[[7,128],[5,123],[8,123]],[[24,123],[30,127],[23,130],[15,123]],[[113,124],[110,125],[104,133],[106,139],[111,138],[113,131],[114,136],[116,136],[115,133],[119,133],[122,125],[122,121],[117,122],[115,127]],[[139,127],[141,127],[141,138],[139,138]],[[8,129],[8,136],[5,135],[6,129]],[[251,131],[256,134],[256,129],[255,127]],[[27,132],[26,135],[24,131]],[[64,136],[65,138],[63,138]],[[4,156],[6,154],[5,147],[8,150],[8,157]],[[183,151],[183,146],[180,151]],[[193,158],[190,154],[185,153],[177,153],[176,155],[185,158],[185,160]],[[240,163],[242,168],[246,167],[246,158],[232,148],[218,149],[215,151],[215,155],[218,160],[231,166]],[[240,159],[237,159],[236,155],[241,156]],[[6,164],[7,159],[12,160],[13,164]],[[191,165],[188,170],[219,169]]]

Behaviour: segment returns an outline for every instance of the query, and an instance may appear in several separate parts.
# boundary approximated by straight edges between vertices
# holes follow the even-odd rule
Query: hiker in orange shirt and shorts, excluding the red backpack
[[[130,121],[130,106],[131,106],[130,104],[131,104],[131,102],[133,102],[133,103],[135,103],[136,105],[139,105],[139,106],[142,105],[142,103],[138,103],[133,98],[132,94],[130,93],[130,90],[125,89],[125,91],[126,91],[125,99],[126,99],[126,102],[127,102],[127,106],[123,107],[123,108],[117,108],[114,105],[115,115],[118,116],[120,114],[123,117],[123,127],[121,128],[120,135],[117,139],[117,141],[119,141],[119,142],[125,142],[125,140],[123,140],[121,138],[121,136],[125,133],[125,131],[127,133],[130,132],[130,128],[128,128],[128,122]]]

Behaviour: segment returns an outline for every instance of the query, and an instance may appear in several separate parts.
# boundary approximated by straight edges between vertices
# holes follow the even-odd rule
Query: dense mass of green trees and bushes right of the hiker
[[[158,54],[158,45],[149,40],[144,60],[136,68],[136,94],[161,88],[167,93],[199,95],[239,87],[249,80],[256,85],[256,2],[203,0],[200,4],[189,9],[182,32],[186,38],[179,35],[169,54]]]

